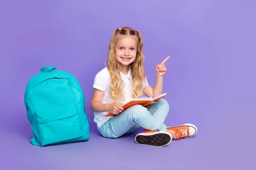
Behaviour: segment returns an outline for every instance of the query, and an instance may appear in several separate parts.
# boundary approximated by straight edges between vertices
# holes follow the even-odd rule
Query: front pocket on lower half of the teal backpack
[[[76,104],[34,113],[42,145],[54,144],[83,136],[81,114]]]

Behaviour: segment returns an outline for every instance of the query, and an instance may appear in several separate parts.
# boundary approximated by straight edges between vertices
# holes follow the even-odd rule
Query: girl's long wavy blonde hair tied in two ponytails
[[[116,40],[122,36],[131,36],[137,42],[137,54],[136,59],[132,62],[128,68],[131,71],[132,77],[132,90],[133,98],[138,98],[143,95],[143,82],[145,81],[146,73],[143,67],[144,63],[144,54],[143,54],[143,39],[140,31],[134,30],[129,27],[122,27],[119,31],[119,28],[116,28],[113,31],[111,41],[108,47],[108,57],[106,60],[106,66],[108,67],[108,72],[110,74],[110,97],[114,99],[114,101],[119,100],[120,98],[125,99],[121,84],[122,79],[120,77],[120,63],[116,61],[115,57],[115,48],[116,48]]]

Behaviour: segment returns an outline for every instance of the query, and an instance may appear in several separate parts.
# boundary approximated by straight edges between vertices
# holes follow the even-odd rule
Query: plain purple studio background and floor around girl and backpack
[[[255,169],[255,8],[253,0],[1,0],[0,169]],[[197,136],[141,146],[142,130],[106,139],[92,121],[87,142],[33,146],[26,83],[42,66],[70,72],[93,120],[93,79],[121,26],[142,32],[151,86],[154,65],[171,56],[166,124],[195,124]]]

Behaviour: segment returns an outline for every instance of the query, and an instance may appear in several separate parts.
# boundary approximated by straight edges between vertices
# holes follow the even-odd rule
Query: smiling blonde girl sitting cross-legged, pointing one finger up
[[[156,82],[152,88],[148,85],[143,68],[143,40],[140,31],[128,27],[114,30],[106,67],[96,74],[91,100],[94,122],[102,136],[118,138],[143,127],[145,131],[137,134],[135,141],[159,147],[168,145],[172,139],[195,136],[197,127],[192,124],[166,127],[163,122],[169,113],[169,104],[164,99],[146,107],[134,105],[125,110],[121,107],[122,103],[133,98],[162,94],[167,59],[169,57],[156,65]],[[106,113],[115,116],[104,116]]]

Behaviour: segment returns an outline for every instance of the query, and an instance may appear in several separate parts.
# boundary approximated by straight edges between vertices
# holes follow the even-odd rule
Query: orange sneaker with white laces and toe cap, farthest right
[[[175,132],[176,138],[174,140],[179,140],[181,138],[191,138],[192,136],[195,136],[198,131],[197,127],[190,123],[175,127],[167,127],[167,129],[173,130]]]

